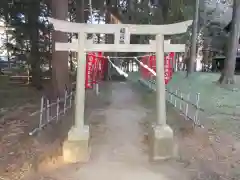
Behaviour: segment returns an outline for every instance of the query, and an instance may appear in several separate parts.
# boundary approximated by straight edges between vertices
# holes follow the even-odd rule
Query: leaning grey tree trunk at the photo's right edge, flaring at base
[[[219,78],[221,84],[234,84],[234,73],[240,30],[240,1],[234,0],[231,32],[227,49],[227,58],[224,61],[224,69]]]

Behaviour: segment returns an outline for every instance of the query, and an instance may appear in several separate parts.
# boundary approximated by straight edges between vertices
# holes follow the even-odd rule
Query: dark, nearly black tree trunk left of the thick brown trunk
[[[39,54],[39,29],[38,29],[38,17],[40,13],[40,3],[38,1],[33,1],[31,6],[29,6],[28,23],[31,29],[30,33],[30,62],[31,62],[31,75],[32,75],[32,85],[36,88],[41,88],[41,61]]]

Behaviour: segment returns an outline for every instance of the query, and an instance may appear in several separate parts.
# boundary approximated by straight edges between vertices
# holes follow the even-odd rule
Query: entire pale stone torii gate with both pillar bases
[[[85,66],[86,52],[156,52],[157,71],[157,120],[152,126],[150,137],[150,159],[170,158],[174,152],[173,131],[166,124],[166,102],[164,83],[164,52],[182,52],[185,45],[164,42],[164,35],[186,32],[192,21],[169,25],[131,25],[131,24],[80,24],[49,18],[56,31],[78,33],[78,41],[72,43],[56,42],[56,51],[78,52],[77,85],[75,100],[75,125],[68,133],[63,145],[66,162],[86,162],[89,159],[89,127],[84,124]],[[120,31],[125,31],[125,43],[120,43]],[[114,34],[114,44],[93,44],[86,38],[87,33]],[[130,35],[155,35],[150,44],[130,44]]]

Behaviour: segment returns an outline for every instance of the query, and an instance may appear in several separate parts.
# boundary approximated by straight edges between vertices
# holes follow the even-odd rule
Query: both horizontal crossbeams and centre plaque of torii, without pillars
[[[49,22],[54,25],[57,31],[68,33],[100,33],[114,34],[114,44],[94,44],[93,41],[84,39],[84,51],[103,51],[103,52],[156,52],[156,43],[150,44],[130,44],[130,35],[171,35],[186,32],[192,21],[185,21],[170,25],[132,25],[132,24],[81,24],[63,20],[49,18]],[[125,29],[124,44],[119,43],[120,30]],[[78,51],[78,42],[63,43],[56,42],[57,51]],[[183,52],[184,44],[164,43],[164,52]]]

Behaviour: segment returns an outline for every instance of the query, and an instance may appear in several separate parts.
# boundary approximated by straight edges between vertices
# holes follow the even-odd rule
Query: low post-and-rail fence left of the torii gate
[[[41,131],[49,123],[58,121],[60,116],[64,115],[67,110],[72,107],[73,98],[73,91],[65,91],[64,98],[57,98],[55,101],[50,101],[42,96],[40,111],[36,112],[36,114],[39,115],[38,127],[33,129],[29,135],[32,136],[38,131]]]

